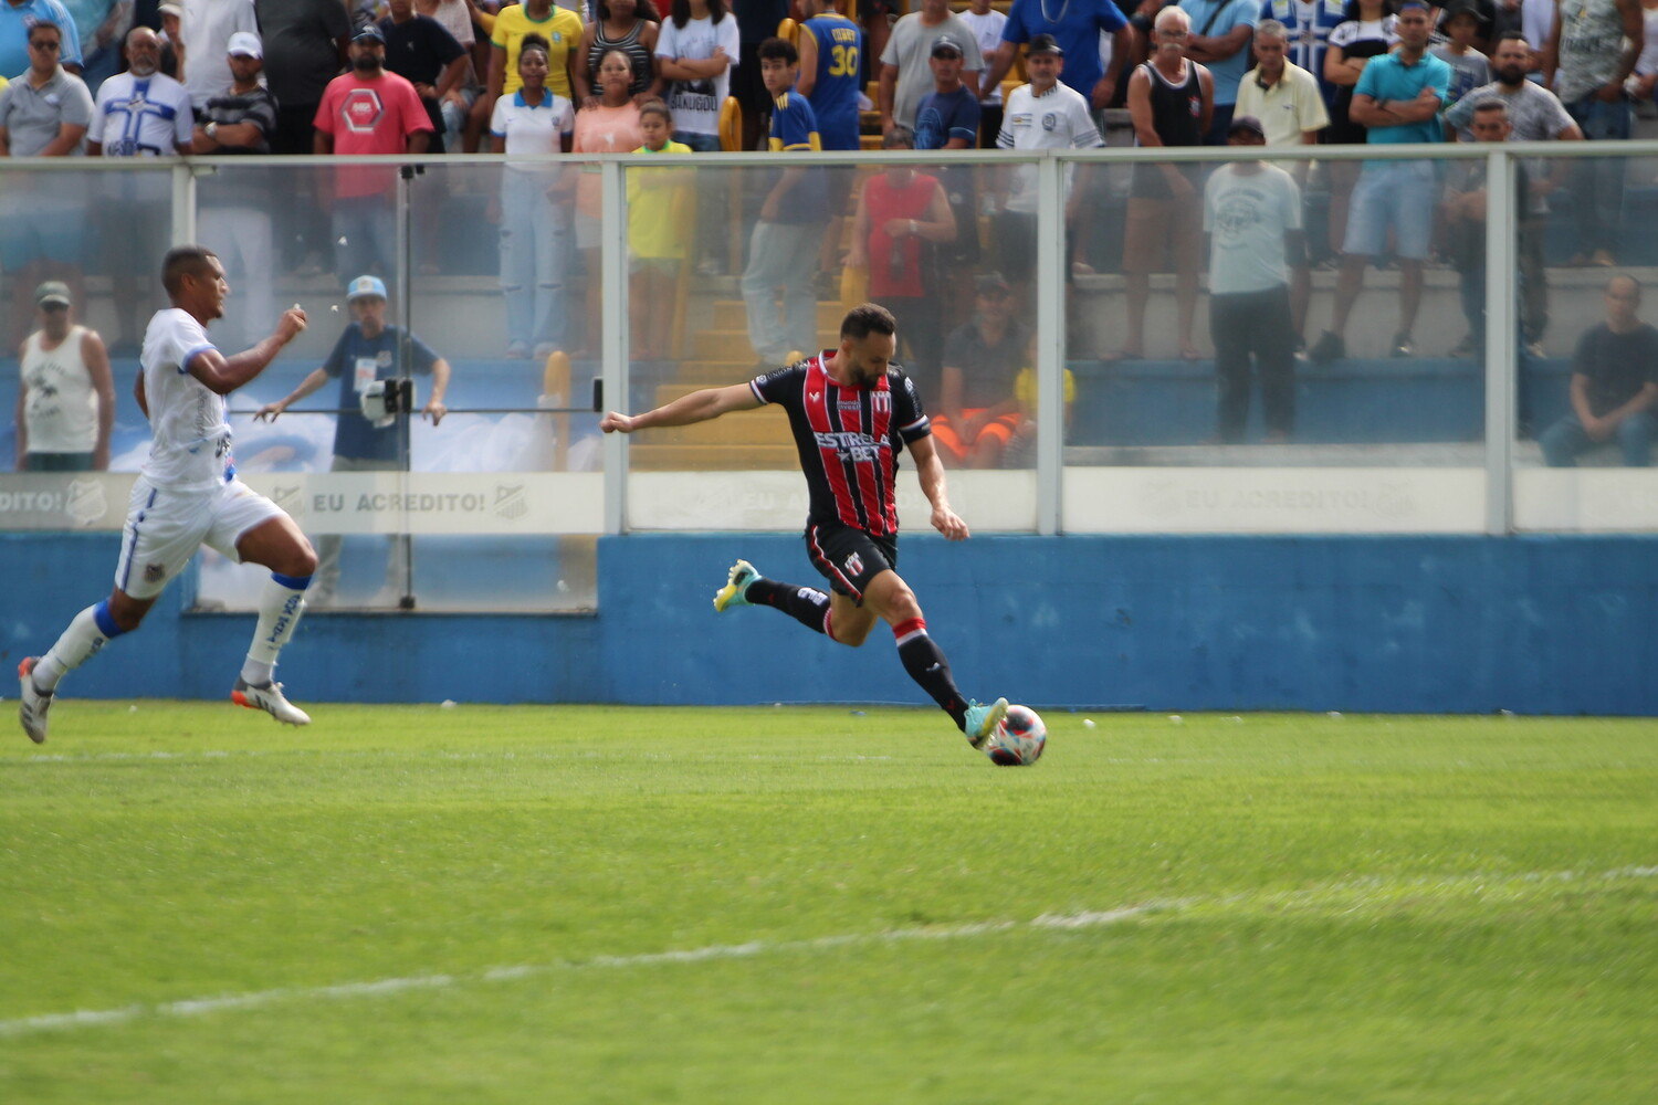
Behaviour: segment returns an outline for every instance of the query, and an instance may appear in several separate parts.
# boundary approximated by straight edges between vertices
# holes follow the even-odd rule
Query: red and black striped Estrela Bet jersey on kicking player
[[[794,447],[811,490],[807,525],[841,524],[889,537],[899,532],[892,494],[899,451],[932,432],[915,383],[892,366],[870,388],[842,388],[824,369],[824,350],[749,381],[754,398],[789,413]]]

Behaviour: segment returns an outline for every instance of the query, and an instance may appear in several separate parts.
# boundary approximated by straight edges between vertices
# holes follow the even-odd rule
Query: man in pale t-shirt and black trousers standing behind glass
[[[1267,128],[1255,116],[1234,116],[1227,144],[1265,146]],[[1300,247],[1302,191],[1278,166],[1255,159],[1224,164],[1204,186],[1204,230],[1210,235],[1209,335],[1220,381],[1217,437],[1244,441],[1253,358],[1267,441],[1288,441],[1295,429],[1288,258]]]

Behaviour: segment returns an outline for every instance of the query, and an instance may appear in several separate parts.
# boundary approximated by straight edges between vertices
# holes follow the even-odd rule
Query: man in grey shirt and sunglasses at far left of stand
[[[0,91],[0,157],[73,157],[85,152],[93,96],[81,78],[58,65],[63,30],[28,28],[28,73]],[[33,303],[23,288],[46,280],[81,288],[81,235],[86,194],[71,174],[23,174],[0,192],[0,268],[12,277],[12,315],[3,345],[28,331]]]

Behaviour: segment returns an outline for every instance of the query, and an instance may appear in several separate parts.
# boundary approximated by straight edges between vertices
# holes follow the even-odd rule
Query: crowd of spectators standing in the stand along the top
[[[784,17],[801,22],[788,58],[773,38]],[[1010,75],[1015,83],[1005,88]],[[1497,141],[1499,133],[1612,141],[1630,136],[1636,104],[1658,88],[1658,0],[880,0],[851,13],[837,0],[0,0],[0,81],[7,78],[0,156],[662,156],[720,149],[728,96],[744,109],[744,147],[779,151],[856,149],[862,119],[879,119],[884,149],[1086,149],[1104,142],[1109,108],[1127,109],[1139,146]],[[1247,126],[1237,128],[1240,119]],[[1416,351],[1423,270],[1436,262],[1452,263],[1462,278],[1469,331],[1454,351],[1481,348],[1482,253],[1469,245],[1484,210],[1477,174],[1442,172],[1431,161],[1285,167],[1242,171],[1257,191],[1270,181],[1277,197],[1287,182],[1295,195],[1293,220],[1272,205],[1272,225],[1283,225],[1270,237],[1283,240],[1268,257],[1282,253],[1282,265],[1270,265],[1282,268],[1282,288],[1277,275],[1262,273],[1237,290],[1214,287],[1217,258],[1230,257],[1215,252],[1217,204],[1237,189],[1217,194],[1207,169],[1141,162],[1126,176],[1083,172],[1066,182],[1073,219],[1108,191],[1126,191],[1119,356],[1144,355],[1156,272],[1176,273],[1179,355],[1199,355],[1205,267],[1214,303],[1244,297],[1222,303],[1224,311],[1212,303],[1212,315],[1230,320],[1222,331],[1258,321],[1260,311],[1234,308],[1263,292],[1277,318],[1282,293],[1282,328],[1303,355],[1315,267],[1307,197],[1315,189],[1330,197],[1321,240],[1331,257],[1323,263],[1338,275],[1333,318],[1311,359],[1345,356],[1370,265],[1399,270],[1393,355]],[[1520,316],[1535,353],[1549,326],[1542,257],[1550,197],[1570,191],[1573,263],[1617,265],[1626,164],[1608,156],[1525,169],[1517,197]],[[870,293],[899,313],[917,373],[942,386],[945,336],[983,290],[975,275],[995,270],[1015,298],[1030,293],[1035,172],[975,172],[940,159],[928,171],[865,176],[856,195],[854,176],[784,169],[751,197],[758,219],[738,263],[754,353],[776,359],[807,345],[809,303],[847,260],[867,270]],[[103,232],[106,244],[134,253],[134,263],[111,272],[143,272],[136,255],[159,249],[151,239],[167,224],[164,177],[109,181],[76,182],[27,212],[0,209],[8,341],[27,328],[30,290],[43,282],[63,282],[85,302],[80,260],[90,235]],[[670,265],[726,272],[736,215],[698,184],[691,172],[673,172],[635,191],[662,205],[633,230],[655,250],[635,267],[635,288],[665,293]],[[219,239],[259,308],[274,308],[272,270],[393,275],[393,171],[317,174],[295,189],[282,225],[269,202],[242,187],[212,189],[204,204],[204,232]],[[562,292],[577,280],[595,283],[599,204],[592,171],[542,166],[502,176],[489,215],[501,235],[509,356],[597,353],[599,297],[587,297],[584,318],[567,318]],[[85,210],[96,215],[73,214]],[[1237,202],[1229,210],[1235,217]],[[1094,257],[1098,235],[1083,230],[1073,225],[1068,239],[1068,272],[1088,272]],[[1227,230],[1250,239],[1234,224]],[[1205,232],[1214,247],[1207,258]],[[436,224],[423,234],[436,235]],[[428,265],[434,240],[416,250]],[[1234,260],[1222,268],[1235,270]],[[940,310],[940,302],[957,310]],[[116,280],[114,306],[111,351],[129,355],[139,288]],[[647,313],[650,333],[637,338],[658,356],[667,353],[662,316]],[[1272,361],[1270,429],[1287,437],[1280,353],[1272,345],[1253,356]],[[1268,368],[1260,371],[1265,379]],[[1239,369],[1222,378],[1235,391]],[[1222,437],[1235,434],[1234,417],[1222,411]]]

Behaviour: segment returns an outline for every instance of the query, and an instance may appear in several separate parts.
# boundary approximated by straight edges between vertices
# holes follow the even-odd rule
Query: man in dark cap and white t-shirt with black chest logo
[[[1104,146],[1094,113],[1079,91],[1059,83],[1064,51],[1053,35],[1033,35],[1025,55],[1031,83],[1008,93],[996,146],[1001,149],[1094,149]],[[1086,169],[1086,167],[1084,167]],[[1006,200],[995,220],[996,252],[1001,273],[1015,285],[1025,285],[1036,270],[1036,166],[1003,169]],[[1086,179],[1071,179],[1066,166],[1064,220],[1076,217],[1078,200],[1088,192]],[[1069,235],[1066,240],[1069,253]],[[1066,282],[1071,280],[1066,257]]]

